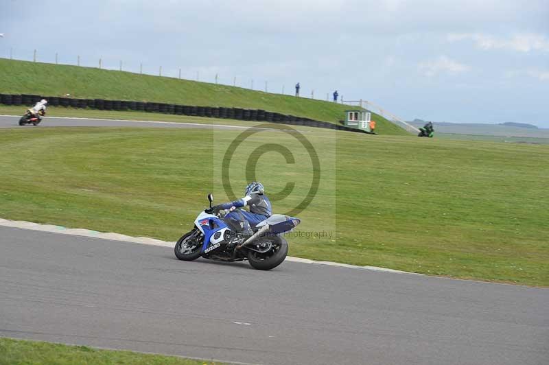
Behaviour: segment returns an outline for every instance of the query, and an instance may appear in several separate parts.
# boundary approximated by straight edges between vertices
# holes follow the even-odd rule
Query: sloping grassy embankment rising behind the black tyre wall
[[[256,108],[337,123],[351,107],[333,102],[264,93],[240,87],[140,75],[91,67],[0,58],[0,93],[163,102],[198,106]],[[373,114],[379,134],[406,135]]]

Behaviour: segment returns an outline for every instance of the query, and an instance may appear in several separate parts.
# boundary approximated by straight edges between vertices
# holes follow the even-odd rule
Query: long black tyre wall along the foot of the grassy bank
[[[154,102],[132,102],[127,100],[104,99],[74,99],[72,97],[41,96],[32,94],[0,94],[0,104],[16,106],[32,106],[41,99],[47,99],[50,106],[65,106],[72,108],[91,108],[99,110],[137,110],[150,113],[165,113],[176,115],[191,115],[198,117],[214,117],[223,119],[238,119],[246,121],[267,121],[285,123],[292,126],[309,126],[372,134],[364,130],[340,126],[327,121],[316,121],[306,117],[273,113],[263,109],[227,108],[224,106],[189,106]]]

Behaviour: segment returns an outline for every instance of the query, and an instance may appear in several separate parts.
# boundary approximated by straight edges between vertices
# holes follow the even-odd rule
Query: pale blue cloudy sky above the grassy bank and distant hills
[[[301,82],[404,119],[549,128],[549,0],[0,0],[0,33],[1,57]]]

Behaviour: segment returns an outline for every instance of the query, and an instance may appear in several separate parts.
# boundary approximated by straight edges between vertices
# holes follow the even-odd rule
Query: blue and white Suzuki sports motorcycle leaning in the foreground
[[[210,209],[200,212],[194,221],[194,228],[178,239],[174,248],[178,259],[248,260],[257,270],[270,270],[284,261],[288,255],[288,242],[281,234],[292,231],[301,220],[273,214],[246,233],[238,231],[230,220],[224,220],[228,210],[211,211],[211,193],[208,200]]]

